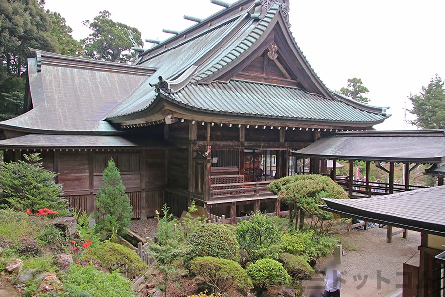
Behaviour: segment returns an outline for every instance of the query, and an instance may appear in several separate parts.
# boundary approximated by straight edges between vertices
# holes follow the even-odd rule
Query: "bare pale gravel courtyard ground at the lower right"
[[[393,232],[397,230],[393,228]],[[339,266],[342,297],[389,296],[401,289],[403,263],[419,264],[419,232],[409,231],[406,239],[402,234],[395,235],[392,243],[387,244],[386,228],[354,229],[351,234],[342,235],[341,242],[345,253]],[[323,259],[320,266],[328,260]],[[303,296],[309,296],[317,285],[324,286],[322,275],[305,283]]]

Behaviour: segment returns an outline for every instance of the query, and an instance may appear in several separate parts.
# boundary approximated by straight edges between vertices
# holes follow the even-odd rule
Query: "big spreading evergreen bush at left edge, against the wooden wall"
[[[3,189],[0,205],[17,211],[27,208],[35,213],[38,209],[49,208],[67,215],[67,201],[62,185],[56,184],[57,174],[46,170],[38,153],[24,155],[27,162],[19,160],[3,164],[0,175],[0,187]]]

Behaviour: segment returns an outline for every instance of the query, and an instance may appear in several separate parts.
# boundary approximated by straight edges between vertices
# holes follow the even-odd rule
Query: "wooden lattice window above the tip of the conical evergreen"
[[[108,161],[113,158],[121,172],[140,172],[140,153],[95,154],[94,173],[102,173]]]

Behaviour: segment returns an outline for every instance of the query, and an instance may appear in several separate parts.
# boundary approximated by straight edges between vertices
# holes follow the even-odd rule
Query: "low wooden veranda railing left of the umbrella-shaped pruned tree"
[[[210,186],[210,197],[223,199],[234,197],[246,197],[260,194],[271,194],[268,185],[270,181],[215,184]]]

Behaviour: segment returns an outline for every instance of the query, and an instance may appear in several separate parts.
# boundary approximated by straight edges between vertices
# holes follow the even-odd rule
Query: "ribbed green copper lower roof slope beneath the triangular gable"
[[[174,98],[191,108],[246,116],[371,124],[386,118],[299,88],[238,80],[187,85]]]

